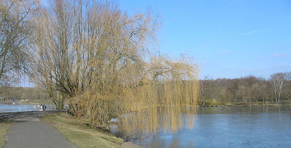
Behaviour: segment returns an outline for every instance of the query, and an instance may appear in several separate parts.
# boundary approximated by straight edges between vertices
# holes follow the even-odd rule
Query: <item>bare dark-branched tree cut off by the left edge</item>
[[[16,83],[26,73],[32,16],[37,1],[0,1],[0,85]]]

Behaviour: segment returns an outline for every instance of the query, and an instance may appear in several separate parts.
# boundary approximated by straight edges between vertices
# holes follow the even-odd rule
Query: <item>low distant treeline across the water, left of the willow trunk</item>
[[[41,88],[1,86],[0,100],[50,100],[50,97]]]

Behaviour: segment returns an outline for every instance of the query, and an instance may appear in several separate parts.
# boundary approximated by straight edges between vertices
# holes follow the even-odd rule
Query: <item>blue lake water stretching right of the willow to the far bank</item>
[[[291,147],[291,107],[199,107],[194,123],[192,130],[130,141],[142,147]]]

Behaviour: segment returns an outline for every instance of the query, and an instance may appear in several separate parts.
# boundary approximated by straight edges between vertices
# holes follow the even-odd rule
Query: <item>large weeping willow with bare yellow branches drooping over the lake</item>
[[[65,94],[71,113],[127,134],[176,131],[195,114],[198,67],[152,53],[159,17],[128,15],[109,1],[50,1],[35,18],[34,77]],[[193,118],[187,125],[193,126]]]

